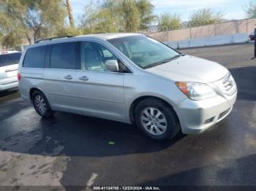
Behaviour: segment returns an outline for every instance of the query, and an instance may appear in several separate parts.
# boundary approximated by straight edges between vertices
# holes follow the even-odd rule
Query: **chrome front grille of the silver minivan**
[[[230,73],[219,81],[214,82],[214,85],[225,95],[233,95],[236,92],[236,82]]]

